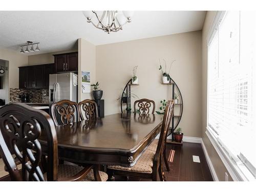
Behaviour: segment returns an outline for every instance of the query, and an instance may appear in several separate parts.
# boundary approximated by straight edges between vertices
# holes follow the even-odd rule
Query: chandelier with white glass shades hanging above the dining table
[[[82,13],[87,18],[88,23],[108,34],[122,30],[122,26],[130,23],[133,16],[133,11],[122,11],[123,14],[120,11],[83,11]],[[100,13],[102,14],[100,15]],[[95,16],[96,24],[92,21],[93,15]]]

